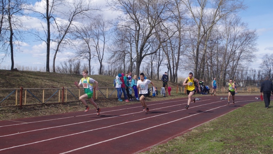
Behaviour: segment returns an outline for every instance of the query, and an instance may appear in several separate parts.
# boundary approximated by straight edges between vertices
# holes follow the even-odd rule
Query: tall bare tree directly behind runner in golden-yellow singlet
[[[223,17],[228,16],[240,9],[244,8],[243,2],[233,0],[184,0],[189,14],[192,20],[196,24],[196,48],[194,57],[194,75],[197,78],[203,78],[205,67],[205,55],[207,53],[207,41],[211,35],[211,31],[214,25],[220,21]],[[209,8],[211,6],[211,8]],[[204,41],[203,51],[200,50],[200,45]],[[199,56],[201,56],[201,62],[199,62]],[[198,65],[200,68],[198,69]]]

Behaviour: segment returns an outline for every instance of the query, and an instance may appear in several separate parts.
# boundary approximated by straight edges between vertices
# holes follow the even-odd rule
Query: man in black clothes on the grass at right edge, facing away
[[[265,81],[261,83],[260,92],[264,93],[265,108],[268,109],[270,105],[270,95],[273,94],[273,84],[269,81],[269,77],[265,77]]]

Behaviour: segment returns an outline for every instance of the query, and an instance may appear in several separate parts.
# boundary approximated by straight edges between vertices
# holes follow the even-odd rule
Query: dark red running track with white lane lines
[[[140,103],[65,114],[0,121],[1,154],[132,154],[165,143],[201,124],[255,100],[236,95],[203,96],[184,109],[187,98]]]

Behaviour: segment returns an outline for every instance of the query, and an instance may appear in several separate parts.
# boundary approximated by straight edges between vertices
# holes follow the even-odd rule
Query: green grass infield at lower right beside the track
[[[272,111],[250,103],[142,154],[272,154]]]

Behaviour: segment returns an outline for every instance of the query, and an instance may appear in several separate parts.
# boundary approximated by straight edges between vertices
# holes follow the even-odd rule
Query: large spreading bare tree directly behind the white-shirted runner
[[[123,12],[123,15],[119,16],[120,22],[116,24],[116,28],[124,27],[134,33],[132,43],[136,53],[136,74],[139,74],[143,58],[156,53],[160,48],[158,45],[156,50],[147,51],[149,42],[155,41],[155,37],[153,37],[155,26],[168,18],[168,16],[163,15],[166,15],[164,12],[167,11],[170,2],[161,0],[113,0],[109,5],[114,10]]]

